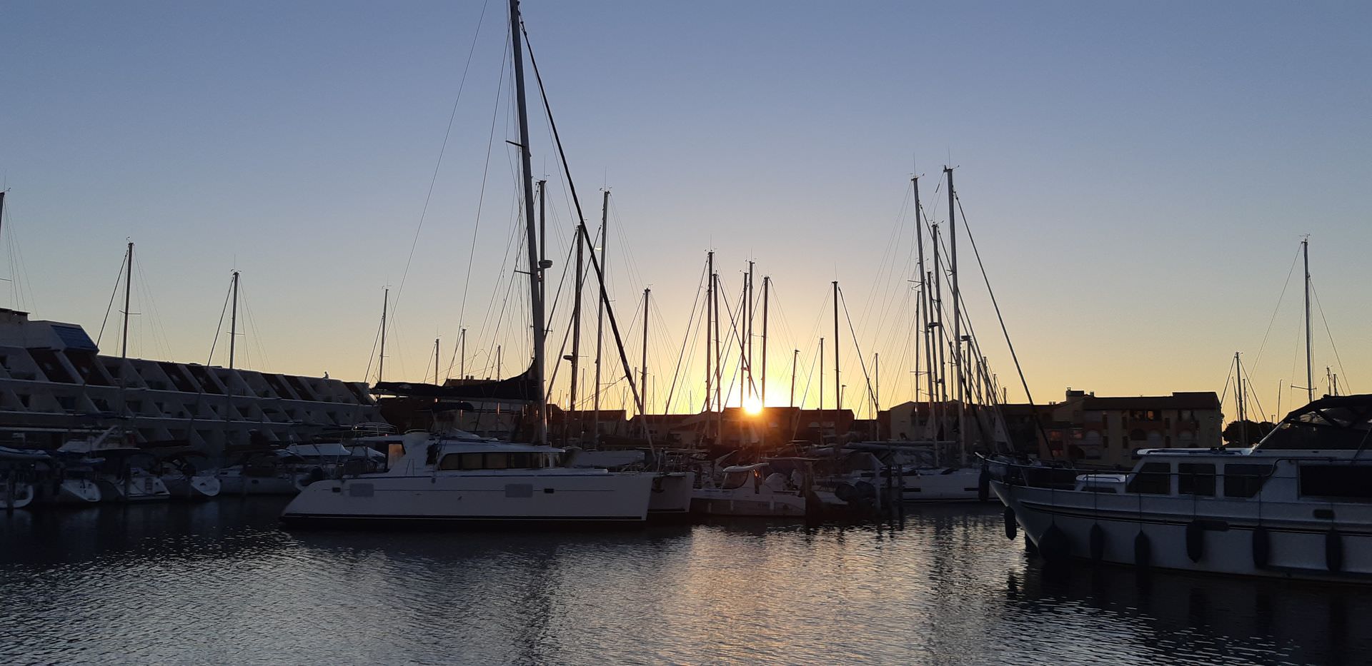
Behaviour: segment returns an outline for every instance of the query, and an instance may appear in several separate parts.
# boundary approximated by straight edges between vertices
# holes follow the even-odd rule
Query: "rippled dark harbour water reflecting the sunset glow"
[[[903,530],[289,533],[283,502],[0,514],[0,663],[1367,663],[1362,588],[1045,571]]]

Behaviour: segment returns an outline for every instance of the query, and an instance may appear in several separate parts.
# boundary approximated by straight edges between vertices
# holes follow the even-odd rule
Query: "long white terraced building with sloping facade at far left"
[[[375,421],[362,382],[121,359],[75,323],[0,308],[0,444],[60,445],[118,426],[130,444],[217,455]]]

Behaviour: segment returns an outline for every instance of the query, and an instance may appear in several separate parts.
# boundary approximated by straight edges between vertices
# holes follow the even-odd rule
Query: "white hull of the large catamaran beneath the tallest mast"
[[[281,513],[291,526],[632,528],[653,474],[377,476],[310,484]]]

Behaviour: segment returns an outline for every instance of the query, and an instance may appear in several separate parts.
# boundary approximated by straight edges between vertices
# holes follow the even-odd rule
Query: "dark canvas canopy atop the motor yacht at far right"
[[[1325,396],[1287,414],[1254,451],[1360,451],[1372,444],[1372,395]]]

